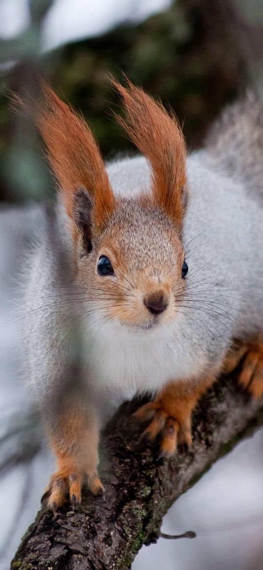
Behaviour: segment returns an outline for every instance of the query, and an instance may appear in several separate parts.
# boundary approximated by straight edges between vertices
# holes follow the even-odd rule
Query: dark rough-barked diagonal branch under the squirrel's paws
[[[263,424],[262,401],[248,401],[224,379],[196,410],[193,449],[157,463],[156,446],[139,441],[131,422],[136,405],[123,404],[103,434],[100,473],[106,500],[84,492],[75,512],[65,507],[53,517],[39,511],[22,538],[12,570],[130,568],[141,545],[159,534],[161,520],[177,497]]]

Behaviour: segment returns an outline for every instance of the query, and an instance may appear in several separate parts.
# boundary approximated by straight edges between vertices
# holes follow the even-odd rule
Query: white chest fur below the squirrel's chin
[[[88,382],[115,402],[189,378],[193,368],[204,364],[203,355],[196,361],[191,343],[184,346],[181,335],[179,344],[172,324],[133,331],[118,322],[96,321],[96,327],[88,327],[87,338]]]

